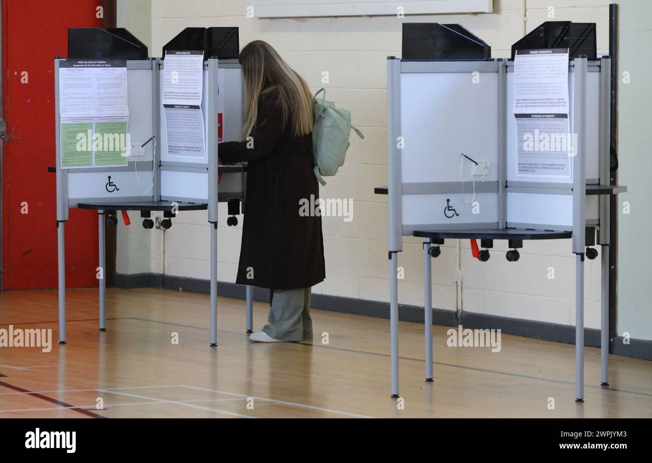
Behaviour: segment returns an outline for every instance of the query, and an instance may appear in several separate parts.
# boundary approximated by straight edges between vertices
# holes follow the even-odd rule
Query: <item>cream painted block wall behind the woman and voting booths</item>
[[[376,301],[389,301],[387,261],[387,198],[374,187],[387,184],[386,58],[400,56],[402,22],[461,23],[492,45],[494,57],[507,57],[511,45],[539,23],[556,20],[598,23],[598,46],[608,48],[609,0],[494,0],[492,14],[344,17],[246,18],[247,0],[152,0],[152,50],[184,27],[237,26],[240,44],[261,39],[272,44],[312,91],[348,108],[366,138],[352,135],[347,162],[321,188],[323,198],[352,198],[353,220],[323,218],[327,279],[314,291]],[[322,72],[329,82],[322,83]],[[168,275],[208,278],[208,226],[205,212],[181,213],[168,232],[153,230],[151,267]],[[163,239],[162,235],[165,234]],[[220,209],[218,278],[235,281],[241,224],[226,226]],[[506,243],[497,241],[492,258],[471,258],[468,241],[449,240],[432,260],[436,308],[466,310],[513,318],[574,323],[574,258],[570,241],[526,242],[518,263],[505,260]],[[458,262],[461,272],[458,273]],[[291,265],[291,262],[288,263]],[[422,305],[421,240],[404,239],[399,265],[402,304]],[[555,278],[548,278],[554,267]],[[461,284],[458,298],[456,283]],[[599,259],[586,265],[586,325],[599,327]]]

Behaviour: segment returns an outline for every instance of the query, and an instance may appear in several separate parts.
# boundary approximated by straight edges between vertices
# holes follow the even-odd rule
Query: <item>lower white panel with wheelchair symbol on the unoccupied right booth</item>
[[[463,199],[464,197],[464,199]],[[404,226],[419,224],[474,224],[498,221],[498,195],[497,193],[477,193],[475,202],[478,203],[477,214],[473,213],[471,202],[472,193],[462,194],[407,194],[403,195],[403,224]],[[451,200],[447,203],[446,200]],[[444,209],[447,204],[455,209],[458,215]]]

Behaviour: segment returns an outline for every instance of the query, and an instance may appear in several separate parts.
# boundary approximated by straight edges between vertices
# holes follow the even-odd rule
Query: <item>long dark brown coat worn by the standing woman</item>
[[[312,133],[293,136],[271,91],[258,102],[254,146],[224,142],[225,164],[247,161],[243,239],[237,284],[272,290],[314,286],[325,278],[321,217],[299,215],[300,200],[319,198]],[[248,269],[253,279],[248,279]]]

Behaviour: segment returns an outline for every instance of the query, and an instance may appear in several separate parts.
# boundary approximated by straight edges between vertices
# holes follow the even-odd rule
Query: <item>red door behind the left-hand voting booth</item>
[[[98,0],[5,0],[2,14],[4,288],[57,286],[54,67],[68,27],[98,27]],[[70,210],[67,286],[97,286],[97,215]]]

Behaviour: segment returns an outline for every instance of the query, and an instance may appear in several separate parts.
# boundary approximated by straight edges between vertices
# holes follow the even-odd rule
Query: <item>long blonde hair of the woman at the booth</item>
[[[243,140],[256,127],[258,98],[273,90],[278,91],[278,104],[292,133],[302,136],[312,132],[310,89],[270,44],[263,40],[249,42],[238,59],[244,80]]]

